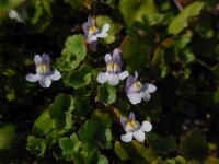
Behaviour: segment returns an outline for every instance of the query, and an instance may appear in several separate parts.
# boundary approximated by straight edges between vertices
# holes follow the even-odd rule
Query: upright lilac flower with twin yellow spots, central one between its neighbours
[[[114,49],[113,57],[111,54],[105,55],[105,62],[106,62],[106,72],[101,72],[97,75],[97,81],[100,83],[105,83],[108,81],[110,85],[117,85],[119,80],[124,80],[129,75],[128,71],[122,72],[122,60],[120,60],[120,52],[119,48]]]

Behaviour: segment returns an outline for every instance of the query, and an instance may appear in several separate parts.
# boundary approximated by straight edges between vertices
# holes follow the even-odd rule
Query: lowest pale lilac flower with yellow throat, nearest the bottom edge
[[[136,121],[135,114],[131,112],[129,118],[122,117],[120,124],[126,131],[126,134],[122,134],[120,139],[124,142],[130,142],[132,137],[139,141],[145,141],[145,132],[149,132],[152,129],[152,125],[149,121],[143,121],[142,126]],[[145,131],[145,132],[143,132]]]

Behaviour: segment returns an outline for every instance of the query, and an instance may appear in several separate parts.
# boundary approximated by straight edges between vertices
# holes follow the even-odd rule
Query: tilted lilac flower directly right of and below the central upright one
[[[131,104],[138,104],[143,101],[149,101],[151,95],[157,90],[157,86],[150,83],[142,84],[140,81],[137,81],[138,72],[135,71],[135,78],[132,75],[128,77],[126,81],[126,93]]]

